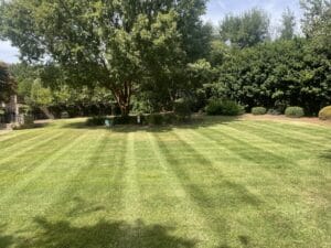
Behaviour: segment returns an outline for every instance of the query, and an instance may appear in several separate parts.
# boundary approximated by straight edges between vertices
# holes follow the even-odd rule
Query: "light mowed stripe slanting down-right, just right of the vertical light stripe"
[[[194,240],[197,240],[199,247],[213,247],[218,244],[218,234],[210,227],[210,223],[204,218],[199,205],[191,198],[186,190],[182,185],[182,181],[173,172],[169,161],[164,154],[164,150],[160,147],[158,138],[152,133],[147,133],[150,143],[151,154],[157,159],[159,170],[161,170],[162,181],[164,181],[163,188],[164,195],[174,196],[175,203],[171,206],[169,213],[166,215],[175,218],[173,222],[177,226],[185,228],[186,235]],[[160,194],[160,197],[163,194]],[[167,204],[167,203],[164,203]],[[167,204],[168,205],[168,204]]]

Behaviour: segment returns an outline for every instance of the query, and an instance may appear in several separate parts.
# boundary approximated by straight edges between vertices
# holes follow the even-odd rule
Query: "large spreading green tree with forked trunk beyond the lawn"
[[[68,80],[108,88],[128,115],[146,78],[179,83],[172,69],[202,46],[204,8],[204,0],[2,1],[0,33],[23,60],[57,63]]]

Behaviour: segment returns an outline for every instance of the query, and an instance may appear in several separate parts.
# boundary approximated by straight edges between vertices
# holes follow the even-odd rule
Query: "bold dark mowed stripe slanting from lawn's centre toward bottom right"
[[[169,170],[177,176],[185,194],[190,195],[192,203],[194,203],[193,205],[196,206],[196,209],[199,209],[199,213],[201,213],[213,233],[217,234],[217,240],[212,238],[213,242],[218,242],[220,240],[226,242],[229,230],[226,218],[215,207],[215,198],[209,194],[207,181],[204,180],[207,176],[203,174],[213,170],[213,166],[207,160],[192,153],[190,148],[183,145],[185,142],[175,136],[175,133],[169,132],[167,134],[171,134],[175,141],[167,142],[162,140],[161,134],[156,134],[156,137],[158,145],[164,154]],[[180,160],[180,154],[182,153],[190,153],[192,159],[184,163],[183,160]],[[209,174],[212,173],[211,171],[209,172]]]

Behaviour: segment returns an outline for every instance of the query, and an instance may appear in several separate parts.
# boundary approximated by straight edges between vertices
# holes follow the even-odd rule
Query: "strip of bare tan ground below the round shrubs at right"
[[[246,114],[242,117],[244,120],[273,120],[273,121],[282,121],[282,122],[293,122],[293,123],[313,123],[331,127],[330,120],[320,120],[317,117],[303,117],[303,118],[288,118],[286,116],[254,116],[252,114]]]

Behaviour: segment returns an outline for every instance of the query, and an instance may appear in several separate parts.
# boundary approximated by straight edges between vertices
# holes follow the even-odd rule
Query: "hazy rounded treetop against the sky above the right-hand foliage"
[[[256,45],[269,36],[269,18],[259,9],[249,10],[241,15],[226,15],[220,26],[224,42],[229,41],[241,48]]]

